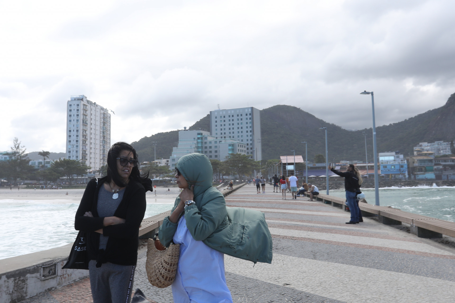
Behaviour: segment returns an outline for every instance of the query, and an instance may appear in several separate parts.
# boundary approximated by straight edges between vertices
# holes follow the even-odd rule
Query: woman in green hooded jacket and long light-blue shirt
[[[203,154],[187,154],[176,164],[175,177],[183,190],[158,232],[162,245],[180,244],[172,283],[176,303],[232,303],[224,254],[255,263],[272,261],[272,237],[264,215],[227,208],[222,193],[212,187],[212,173]]]

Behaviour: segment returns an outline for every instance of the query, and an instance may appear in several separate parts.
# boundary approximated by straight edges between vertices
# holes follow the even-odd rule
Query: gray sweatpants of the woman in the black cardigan
[[[136,266],[109,262],[100,268],[95,265],[95,260],[88,263],[93,303],[129,303]]]

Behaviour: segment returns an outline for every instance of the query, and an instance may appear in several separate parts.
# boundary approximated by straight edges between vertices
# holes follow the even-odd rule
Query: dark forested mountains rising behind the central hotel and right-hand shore
[[[325,156],[325,134],[320,127],[327,127],[329,162],[340,160],[364,160],[365,141],[362,132],[367,134],[368,159],[372,161],[372,129],[350,131],[338,125],[318,119],[302,109],[289,105],[275,105],[261,110],[261,143],[263,159],[279,159],[279,155],[295,154],[305,156],[308,142],[308,160],[314,155]],[[210,129],[209,115],[197,121],[189,129]],[[455,137],[455,94],[447,103],[404,121],[376,128],[378,152],[399,150],[402,154],[412,154],[412,149],[420,142],[450,141]],[[141,161],[153,160],[152,141],[157,141],[157,158],[168,158],[172,147],[177,146],[178,133],[173,130],[144,137],[132,145]]]

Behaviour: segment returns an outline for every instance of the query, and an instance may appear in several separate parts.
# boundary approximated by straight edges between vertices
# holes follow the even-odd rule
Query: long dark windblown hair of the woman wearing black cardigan
[[[112,144],[111,149],[107,152],[107,182],[114,181],[117,186],[125,187],[126,183],[120,178],[117,171],[117,159],[122,150],[127,150],[133,154],[133,159],[137,160],[136,149],[126,142],[117,142]],[[148,171],[141,174],[139,171],[139,162],[135,167],[131,168],[129,179],[142,183],[148,178]]]

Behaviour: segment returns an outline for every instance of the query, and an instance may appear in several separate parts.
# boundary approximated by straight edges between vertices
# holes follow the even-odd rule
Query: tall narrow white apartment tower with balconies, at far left
[[[66,157],[83,161],[91,170],[106,165],[111,147],[111,114],[82,95],[66,104]]]

